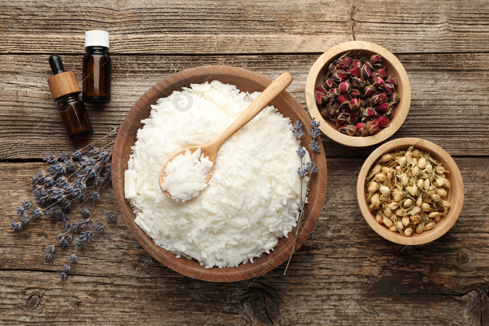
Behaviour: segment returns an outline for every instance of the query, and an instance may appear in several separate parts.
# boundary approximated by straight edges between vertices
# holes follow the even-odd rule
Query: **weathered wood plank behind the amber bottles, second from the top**
[[[289,92],[305,107],[304,86],[318,55],[277,56],[114,56],[112,102],[87,105],[96,138],[109,125],[124,119],[133,103],[148,88],[173,73],[199,65],[235,65],[276,78],[289,71],[294,77]],[[48,152],[70,151],[87,141],[67,140],[46,79],[47,55],[1,55],[0,158],[39,158]],[[81,78],[81,56],[64,56],[65,66]],[[421,137],[437,143],[451,155],[489,155],[481,128],[489,125],[489,54],[399,55],[411,84],[411,109],[405,125],[394,137]],[[326,155],[366,156],[373,148],[352,149],[323,140]]]

